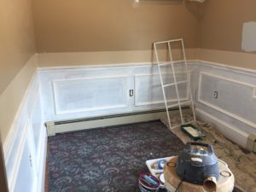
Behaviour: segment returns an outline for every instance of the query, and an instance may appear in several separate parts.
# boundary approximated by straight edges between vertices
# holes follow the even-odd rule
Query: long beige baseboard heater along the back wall
[[[183,107],[182,109],[188,110],[189,107]],[[170,114],[176,114],[178,113],[178,108],[171,108],[169,112]],[[47,127],[47,134],[50,137],[55,136],[57,133],[80,131],[112,125],[138,123],[143,121],[156,120],[162,117],[166,117],[166,109],[155,109],[133,113],[119,113],[91,118],[49,121],[46,122],[45,125]]]

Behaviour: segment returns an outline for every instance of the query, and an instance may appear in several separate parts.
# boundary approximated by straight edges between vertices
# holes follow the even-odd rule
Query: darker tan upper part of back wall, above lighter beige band
[[[197,47],[198,20],[183,3],[134,2],[34,0],[38,52],[151,49],[169,38]]]

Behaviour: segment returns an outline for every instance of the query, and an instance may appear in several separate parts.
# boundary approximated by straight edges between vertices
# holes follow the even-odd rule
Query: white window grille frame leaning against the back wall
[[[183,59],[181,61],[173,61],[173,56],[172,56],[172,46],[171,44],[173,43],[179,43],[181,44],[182,47],[182,57]],[[161,61],[160,59],[160,55],[161,55],[161,50],[158,49],[159,46],[162,45],[167,45],[167,49],[168,49],[168,58],[167,61]],[[168,124],[170,126],[170,129],[175,128],[176,126],[172,126],[171,124],[171,119],[169,116],[169,109],[170,108],[175,108],[178,107],[179,109],[179,113],[180,113],[180,118],[181,118],[181,124],[185,124],[185,123],[189,123],[189,122],[185,122],[183,119],[183,112],[182,112],[182,107],[184,105],[189,105],[192,109],[192,113],[193,113],[193,118],[195,121],[195,108],[194,108],[194,101],[192,98],[192,92],[191,92],[191,88],[190,88],[190,74],[189,74],[189,69],[188,69],[188,64],[187,64],[187,60],[186,60],[186,55],[185,55],[185,49],[184,49],[184,44],[183,44],[183,38],[178,38],[178,39],[173,39],[173,40],[168,40],[168,41],[160,41],[160,42],[155,42],[154,43],[154,53],[155,53],[155,58],[157,61],[157,65],[158,65],[158,69],[159,69],[159,73],[160,73],[160,84],[163,90],[163,96],[164,96],[164,101],[165,101],[165,105],[166,105],[166,113],[167,113],[167,119],[168,119]],[[183,71],[179,71],[176,72],[174,64],[178,65],[178,64],[184,64],[184,70]],[[164,76],[166,75],[166,73],[162,73],[162,67],[172,67],[172,77],[173,77],[173,82],[164,82]],[[185,73],[186,74],[186,79],[185,80],[181,80],[181,81],[177,81],[177,73]],[[182,99],[180,98],[180,92],[178,90],[178,85],[179,84],[186,84],[187,87],[187,91],[188,91],[188,96],[189,99],[186,101],[182,101]],[[177,95],[177,103],[175,104],[171,104],[170,102],[167,101],[167,90],[171,87],[175,87],[175,91],[176,91],[176,95]]]

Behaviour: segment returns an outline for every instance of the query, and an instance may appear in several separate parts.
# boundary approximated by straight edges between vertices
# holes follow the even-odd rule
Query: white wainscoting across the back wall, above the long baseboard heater
[[[183,65],[176,66],[177,78],[186,78]],[[172,83],[172,69],[163,67]],[[39,69],[45,121],[89,118],[164,108],[157,65],[126,64],[108,67],[65,67]],[[171,88],[172,89],[172,88]],[[183,100],[185,84],[179,85]],[[174,92],[170,102],[177,102]]]

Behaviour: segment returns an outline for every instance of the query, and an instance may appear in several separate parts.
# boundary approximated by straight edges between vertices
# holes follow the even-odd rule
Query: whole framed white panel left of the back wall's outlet
[[[127,107],[127,79],[127,76],[55,79],[52,81],[55,114],[125,108]],[[81,84],[84,84],[84,87]],[[65,90],[72,90],[72,93]],[[88,103],[93,105],[89,106]],[[64,108],[64,105],[67,108]]]

